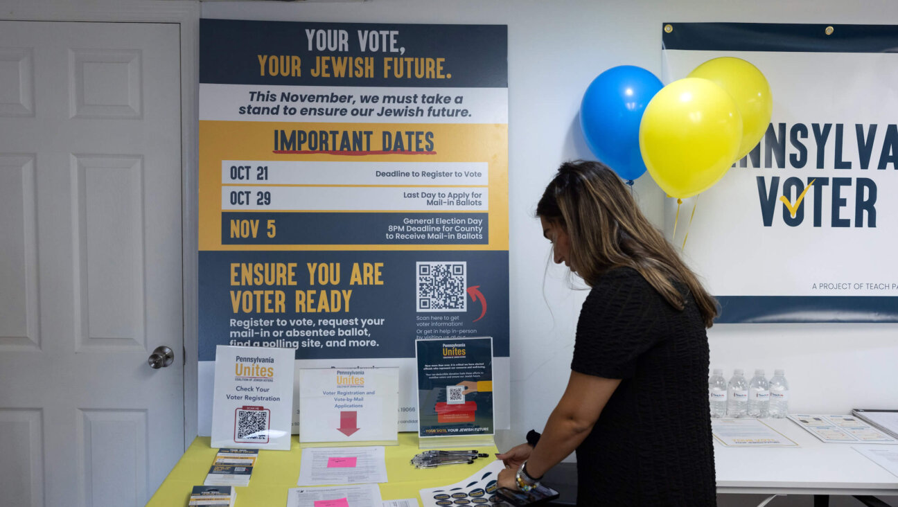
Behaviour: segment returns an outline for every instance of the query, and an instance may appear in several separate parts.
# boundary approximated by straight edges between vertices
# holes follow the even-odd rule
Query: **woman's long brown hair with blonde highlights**
[[[648,222],[623,181],[602,162],[565,162],[536,206],[536,215],[559,223],[570,237],[570,264],[593,286],[609,269],[632,267],[677,310],[685,284],[705,327],[718,315],[717,301],[682,262],[664,235]],[[688,297],[688,294],[687,296]]]

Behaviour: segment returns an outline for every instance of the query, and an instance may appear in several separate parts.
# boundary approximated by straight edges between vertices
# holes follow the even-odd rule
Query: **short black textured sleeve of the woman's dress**
[[[638,358],[656,345],[658,294],[632,268],[618,268],[595,284],[577,321],[571,370],[607,379],[629,379]]]

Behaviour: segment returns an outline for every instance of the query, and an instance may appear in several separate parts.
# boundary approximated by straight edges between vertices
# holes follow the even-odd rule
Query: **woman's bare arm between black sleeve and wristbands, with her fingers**
[[[527,459],[527,474],[541,477],[576,450],[592,431],[602,409],[620,383],[620,379],[570,372],[568,389],[552,410],[539,443]],[[515,471],[503,471],[499,476],[499,485],[516,489],[516,484],[512,484],[515,483]]]

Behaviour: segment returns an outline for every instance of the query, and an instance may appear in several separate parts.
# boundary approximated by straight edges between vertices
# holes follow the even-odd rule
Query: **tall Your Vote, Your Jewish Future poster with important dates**
[[[504,25],[200,21],[200,434],[216,345],[399,367],[400,431],[416,338],[507,379],[506,60]]]

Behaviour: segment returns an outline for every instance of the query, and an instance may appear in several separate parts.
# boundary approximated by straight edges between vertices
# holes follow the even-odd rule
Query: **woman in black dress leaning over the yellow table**
[[[505,454],[529,490],[577,450],[578,505],[716,505],[705,328],[716,302],[599,162],[561,165],[536,214],[591,287],[568,388],[540,436]]]

